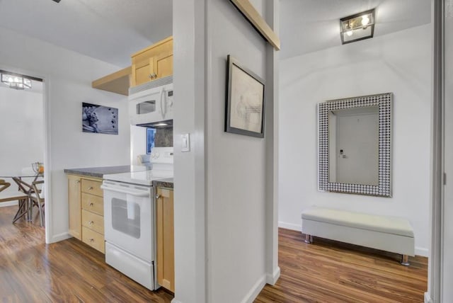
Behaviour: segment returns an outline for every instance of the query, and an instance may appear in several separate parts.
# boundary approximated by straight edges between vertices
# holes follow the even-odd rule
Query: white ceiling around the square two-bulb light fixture
[[[431,21],[429,0],[280,0],[280,58],[341,45],[340,18],[371,8],[374,37]]]

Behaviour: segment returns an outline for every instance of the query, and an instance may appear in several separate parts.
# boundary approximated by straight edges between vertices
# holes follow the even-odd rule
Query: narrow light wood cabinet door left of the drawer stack
[[[81,240],[81,181],[68,175],[69,234]]]

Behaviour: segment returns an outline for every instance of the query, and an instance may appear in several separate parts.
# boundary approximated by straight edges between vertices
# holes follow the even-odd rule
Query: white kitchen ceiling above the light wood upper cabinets
[[[172,33],[171,0],[0,0],[0,27],[118,67]]]

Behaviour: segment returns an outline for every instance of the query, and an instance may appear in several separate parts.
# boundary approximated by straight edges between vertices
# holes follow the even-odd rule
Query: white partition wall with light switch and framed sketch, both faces
[[[254,4],[275,18],[274,1]],[[223,0],[175,1],[173,37],[173,302],[252,302],[277,268],[273,173],[266,176],[274,168],[273,145],[267,149],[274,142],[273,119],[265,139],[224,132],[226,56],[268,80],[273,105],[273,49]],[[267,109],[272,118],[273,106]],[[182,153],[178,138],[186,132],[192,144]]]

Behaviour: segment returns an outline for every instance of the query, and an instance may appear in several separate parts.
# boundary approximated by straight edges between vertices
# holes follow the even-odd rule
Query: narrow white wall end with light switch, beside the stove
[[[173,1],[175,298],[206,303],[205,1]],[[190,152],[180,135],[190,134]]]

